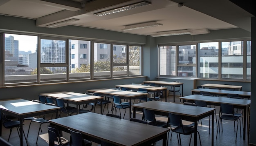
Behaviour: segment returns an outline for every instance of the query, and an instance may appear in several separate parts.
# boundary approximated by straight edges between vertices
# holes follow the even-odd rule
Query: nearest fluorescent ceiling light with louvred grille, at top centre
[[[121,12],[121,11],[134,9],[134,8],[137,8],[137,7],[147,6],[149,4],[151,4],[151,3],[147,2],[147,1],[143,1],[143,2],[138,2],[138,3],[135,3],[135,4],[129,4],[127,6],[123,6],[123,7],[103,11],[103,12],[99,12],[99,13],[94,13],[94,15],[103,16],[103,15],[108,15],[108,14],[112,14],[112,13],[117,13],[117,12]]]

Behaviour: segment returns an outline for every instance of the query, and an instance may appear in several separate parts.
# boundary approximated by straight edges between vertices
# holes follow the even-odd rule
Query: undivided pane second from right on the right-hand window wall
[[[221,43],[221,77],[243,79],[243,41]]]

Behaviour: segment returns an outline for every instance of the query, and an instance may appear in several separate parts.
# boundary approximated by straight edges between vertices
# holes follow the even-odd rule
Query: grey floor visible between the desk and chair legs
[[[176,103],[180,104],[180,100],[178,100],[178,97],[176,97],[176,98],[177,98]],[[167,98],[167,100],[168,100],[168,98]],[[172,97],[170,97],[169,102],[173,102]],[[109,107],[109,109],[110,109],[110,107]],[[106,115],[107,112],[108,111],[105,108],[105,111],[103,114]],[[217,106],[216,107],[217,118],[218,118],[218,112],[219,112],[219,107]],[[96,113],[100,113],[99,105],[96,106]],[[119,114],[119,111],[117,114]],[[123,114],[124,114],[124,110],[121,110],[121,115],[123,116]],[[138,112],[136,114],[137,114],[137,116],[136,116],[137,118],[142,117],[142,113]],[[50,118],[51,116],[52,115],[47,115],[47,118]],[[63,116],[65,116],[65,114],[63,114]],[[127,119],[127,120],[129,119],[128,112],[126,112],[124,119]],[[157,120],[167,121],[167,117],[157,116]],[[29,126],[29,121],[25,121],[24,122],[24,131],[25,131],[26,135],[27,135],[28,126]],[[241,126],[242,126],[242,123],[241,123]],[[39,133],[38,144],[36,144],[38,128],[39,128],[38,123],[33,122],[31,124],[31,129],[29,131],[29,136],[28,136],[29,146],[47,146],[48,145],[48,143],[47,143],[47,140],[48,140],[47,124],[42,125],[43,132]],[[243,127],[241,127],[241,128],[242,128],[242,132],[243,132]],[[209,117],[202,119],[202,125],[199,122],[198,131],[200,133],[202,146],[207,146],[207,145],[210,146],[211,145],[211,134],[209,134]],[[246,140],[243,140],[243,135],[242,135],[242,137],[240,137],[239,126],[238,126],[237,142],[235,142],[236,132],[234,132],[234,122],[233,121],[231,121],[231,122],[223,121],[223,132],[220,131],[220,133],[218,133],[218,139],[216,139],[216,131],[217,131],[217,129],[216,129],[216,121],[215,121],[214,122],[214,139],[213,139],[214,146],[247,146],[247,137],[246,137]],[[9,133],[10,133],[9,129],[6,129],[2,126],[2,137],[4,139],[8,139]],[[68,133],[63,133],[63,136],[66,139],[69,139],[70,135]],[[168,140],[169,140],[168,146],[177,146],[178,143],[177,143],[176,134],[173,133],[172,140],[170,140],[170,136],[171,136],[171,133],[168,138]],[[182,135],[181,137],[182,137],[182,145],[188,146],[189,145],[189,135],[187,135],[187,136]],[[122,137],[120,137],[120,138],[122,138]],[[19,137],[18,137],[16,128],[13,129],[13,132],[11,134],[11,138],[10,138],[9,142],[11,144],[13,144],[14,146],[20,145],[20,141],[19,141]],[[24,139],[24,145],[26,145],[25,139]],[[97,145],[99,145],[99,144],[93,143],[93,146],[97,146]],[[156,145],[162,146],[162,141],[157,142]],[[191,139],[191,145],[193,145],[193,137]],[[198,146],[200,146],[199,141],[198,141]]]

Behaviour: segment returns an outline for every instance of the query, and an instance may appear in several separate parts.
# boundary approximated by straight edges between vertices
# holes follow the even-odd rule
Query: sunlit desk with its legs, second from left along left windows
[[[89,104],[92,102],[102,101],[103,97],[101,96],[94,96],[89,94],[83,93],[76,93],[76,92],[53,92],[53,93],[40,93],[40,95],[52,98],[61,98],[67,104],[75,104],[76,105],[76,113],[79,114],[79,105],[81,104]],[[102,114],[102,102],[101,102],[101,114]]]

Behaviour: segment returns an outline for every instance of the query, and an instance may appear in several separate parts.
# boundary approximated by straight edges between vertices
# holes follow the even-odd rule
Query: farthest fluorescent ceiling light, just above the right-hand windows
[[[164,31],[164,32],[157,32],[156,34],[151,35],[152,37],[160,37],[160,36],[170,36],[170,35],[200,35],[200,34],[207,34],[210,33],[208,29],[185,29],[185,30],[178,30],[178,31]]]

